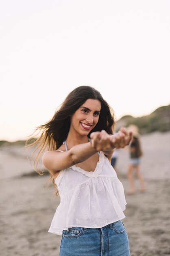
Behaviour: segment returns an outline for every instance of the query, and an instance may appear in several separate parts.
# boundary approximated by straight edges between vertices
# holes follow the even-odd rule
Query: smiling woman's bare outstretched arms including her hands
[[[93,132],[90,135],[91,143],[87,142],[70,148],[63,153],[59,151],[47,151],[42,157],[44,166],[53,176],[65,168],[81,163],[94,155],[97,151],[103,151],[110,160],[114,148],[123,148],[131,141],[131,133],[121,128],[116,136],[108,135],[107,132]]]

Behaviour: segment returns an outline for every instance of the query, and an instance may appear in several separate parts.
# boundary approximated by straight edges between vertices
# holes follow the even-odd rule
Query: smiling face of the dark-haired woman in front
[[[71,117],[70,131],[88,135],[98,123],[101,103],[97,99],[87,99]]]

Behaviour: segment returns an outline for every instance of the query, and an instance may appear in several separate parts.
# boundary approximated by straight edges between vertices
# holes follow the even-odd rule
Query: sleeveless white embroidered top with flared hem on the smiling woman
[[[70,227],[100,228],[125,218],[123,185],[103,152],[95,171],[74,165],[60,171],[55,183],[61,202],[48,232],[61,235]]]

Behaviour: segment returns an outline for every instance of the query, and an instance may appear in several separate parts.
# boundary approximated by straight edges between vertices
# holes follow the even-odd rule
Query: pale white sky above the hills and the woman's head
[[[0,140],[91,85],[117,119],[170,104],[170,0],[0,0]]]

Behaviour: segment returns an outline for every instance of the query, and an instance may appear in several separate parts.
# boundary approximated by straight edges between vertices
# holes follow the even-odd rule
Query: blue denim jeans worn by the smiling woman
[[[121,220],[102,228],[63,230],[60,256],[130,256],[129,239]]]

